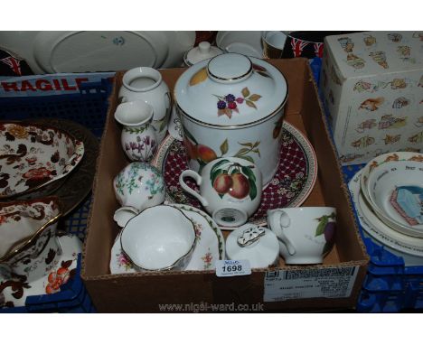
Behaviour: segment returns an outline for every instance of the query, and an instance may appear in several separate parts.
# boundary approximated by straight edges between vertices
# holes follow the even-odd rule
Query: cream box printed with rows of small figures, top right
[[[423,33],[324,39],[320,89],[344,165],[423,150]]]

